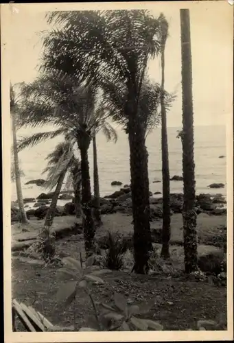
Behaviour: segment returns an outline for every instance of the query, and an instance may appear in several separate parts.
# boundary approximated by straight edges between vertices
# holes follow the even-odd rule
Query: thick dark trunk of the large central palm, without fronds
[[[152,249],[150,233],[150,200],[148,180],[148,153],[145,132],[141,123],[129,116],[128,139],[130,146],[130,174],[132,216],[134,224],[134,271],[147,274],[149,252]]]

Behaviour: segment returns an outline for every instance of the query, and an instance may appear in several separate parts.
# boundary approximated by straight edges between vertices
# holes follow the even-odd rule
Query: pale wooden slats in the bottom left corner
[[[27,307],[25,304],[18,303],[14,299],[12,300],[12,329],[14,332],[16,331],[16,317],[19,318],[28,332],[50,331],[54,327],[47,318],[32,306]]]

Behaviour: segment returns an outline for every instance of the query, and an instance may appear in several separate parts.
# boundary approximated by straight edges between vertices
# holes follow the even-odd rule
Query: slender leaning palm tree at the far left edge
[[[14,179],[16,182],[16,193],[19,205],[19,219],[22,224],[28,224],[27,215],[23,204],[23,194],[21,188],[21,169],[19,167],[18,143],[16,138],[16,115],[18,110],[18,101],[14,92],[14,87],[10,85],[10,114],[12,117],[12,136],[13,136],[13,155],[14,155]]]

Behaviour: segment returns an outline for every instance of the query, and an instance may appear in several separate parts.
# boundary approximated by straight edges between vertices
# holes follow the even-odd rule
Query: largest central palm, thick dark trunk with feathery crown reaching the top
[[[48,23],[60,28],[44,36],[43,70],[59,69],[99,86],[108,83],[116,94],[126,86],[135,272],[148,270],[150,206],[148,153],[139,97],[148,58],[161,49],[160,23],[145,10],[51,12]],[[120,88],[119,88],[120,86]]]

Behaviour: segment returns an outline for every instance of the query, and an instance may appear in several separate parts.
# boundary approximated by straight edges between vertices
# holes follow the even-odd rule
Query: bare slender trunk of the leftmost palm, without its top
[[[14,113],[12,113],[12,134],[13,134],[13,154],[14,154],[14,173],[15,173],[15,182],[16,182],[16,193],[17,200],[19,204],[19,215],[20,221],[22,224],[27,224],[27,215],[25,213],[24,204],[23,204],[23,194],[21,188],[21,171],[19,167],[19,156],[17,151],[17,139],[16,139],[16,122],[14,118]]]

